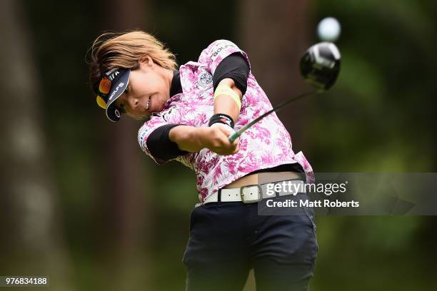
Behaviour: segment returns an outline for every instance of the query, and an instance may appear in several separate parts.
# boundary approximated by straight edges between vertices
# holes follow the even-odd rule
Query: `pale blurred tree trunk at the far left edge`
[[[0,274],[49,276],[54,290],[74,290],[51,180],[32,40],[19,4],[0,1]]]

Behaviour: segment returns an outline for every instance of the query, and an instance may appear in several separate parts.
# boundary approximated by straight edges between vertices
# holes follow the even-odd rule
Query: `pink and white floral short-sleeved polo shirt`
[[[218,63],[236,52],[240,52],[248,61],[247,54],[231,41],[218,40],[201,52],[198,61],[189,61],[180,66],[183,93],[171,96],[164,110],[152,116],[139,129],[139,145],[156,163],[161,164],[164,161],[154,158],[146,146],[151,132],[169,123],[207,127],[209,118],[214,115],[212,76]],[[247,91],[241,100],[241,111],[235,123],[235,130],[238,131],[239,128],[271,108],[266,93],[250,72]],[[314,175],[311,165],[302,152],[293,153],[290,134],[279,121],[276,113],[263,118],[262,121],[244,132],[239,138],[239,148],[238,153],[234,155],[217,155],[204,148],[198,153],[188,153],[175,158],[196,173],[196,188],[201,203],[218,189],[254,170],[273,168],[286,163],[299,163],[306,172],[306,182],[313,183]]]

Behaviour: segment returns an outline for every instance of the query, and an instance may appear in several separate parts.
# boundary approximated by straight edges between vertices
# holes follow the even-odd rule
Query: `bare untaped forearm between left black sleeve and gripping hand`
[[[206,128],[194,126],[176,126],[169,132],[170,141],[177,143],[179,149],[191,153],[198,152],[204,148],[204,134]]]

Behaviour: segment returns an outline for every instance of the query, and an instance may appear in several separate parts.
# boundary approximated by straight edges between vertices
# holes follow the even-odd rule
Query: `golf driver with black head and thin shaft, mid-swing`
[[[263,115],[255,118],[250,123],[243,126],[231,136],[228,136],[228,141],[233,143],[241,134],[248,128],[251,128],[253,124],[261,121],[264,117],[273,112],[278,112],[281,108],[297,101],[306,96],[323,93],[333,86],[336,82],[338,73],[340,73],[340,51],[335,44],[329,42],[322,42],[315,44],[308,48],[308,51],[303,55],[300,62],[301,75],[306,81],[310,82],[312,86],[317,89],[307,93],[301,93],[296,97],[290,98],[287,101],[279,104],[275,108],[263,113]]]

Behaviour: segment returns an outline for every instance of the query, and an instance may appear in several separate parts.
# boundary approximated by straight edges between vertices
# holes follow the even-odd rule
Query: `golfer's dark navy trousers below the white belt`
[[[308,290],[318,250],[313,210],[258,215],[257,204],[214,202],[194,208],[182,260],[186,290],[239,291],[252,268],[257,291]]]

